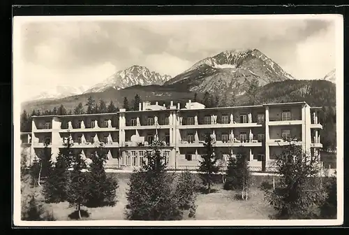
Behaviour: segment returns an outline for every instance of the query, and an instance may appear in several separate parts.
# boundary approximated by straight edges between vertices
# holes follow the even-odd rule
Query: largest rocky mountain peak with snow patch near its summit
[[[198,92],[234,90],[239,94],[252,79],[262,86],[294,78],[259,50],[227,50],[200,60],[165,85],[181,85]]]

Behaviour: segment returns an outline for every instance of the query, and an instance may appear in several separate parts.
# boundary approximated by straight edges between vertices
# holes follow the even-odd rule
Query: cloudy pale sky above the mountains
[[[323,78],[336,67],[333,20],[128,19],[14,20],[21,99],[58,86],[86,89],[135,64],[176,76],[224,50],[256,48],[297,79]]]

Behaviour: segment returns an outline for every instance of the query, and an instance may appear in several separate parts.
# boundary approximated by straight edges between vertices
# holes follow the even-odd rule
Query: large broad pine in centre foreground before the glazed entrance
[[[145,157],[147,163],[132,173],[126,192],[128,220],[180,220],[182,211],[172,183],[174,178],[165,172],[165,157],[161,141],[151,144]]]

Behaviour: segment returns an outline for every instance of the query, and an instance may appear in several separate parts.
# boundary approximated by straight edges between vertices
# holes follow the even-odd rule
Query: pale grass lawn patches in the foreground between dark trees
[[[129,173],[117,173],[119,188],[117,204],[101,208],[84,208],[89,211],[89,218],[83,220],[125,220],[124,211],[127,204]],[[263,200],[262,191],[252,188],[248,201],[235,199],[236,192],[223,190],[222,184],[214,185],[218,191],[211,194],[198,194],[198,205],[195,218],[184,220],[268,220],[273,209]],[[68,203],[46,204],[45,208],[52,212],[56,220],[70,220],[68,215],[74,211]]]

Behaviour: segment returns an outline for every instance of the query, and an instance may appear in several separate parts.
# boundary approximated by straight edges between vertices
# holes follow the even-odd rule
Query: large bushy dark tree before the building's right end
[[[276,155],[275,171],[279,174],[278,186],[265,189],[265,199],[276,210],[278,219],[316,218],[319,206],[326,198],[320,186],[320,166],[317,157],[306,154],[302,146],[292,143],[281,146]]]

